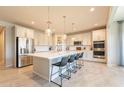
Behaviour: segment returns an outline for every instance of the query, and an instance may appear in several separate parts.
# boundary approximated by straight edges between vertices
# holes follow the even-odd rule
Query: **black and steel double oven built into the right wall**
[[[105,41],[93,42],[93,57],[102,59],[105,58]]]

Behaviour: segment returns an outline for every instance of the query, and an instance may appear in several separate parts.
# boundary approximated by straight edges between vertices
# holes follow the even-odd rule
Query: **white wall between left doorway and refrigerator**
[[[13,66],[14,63],[14,31],[12,31],[13,24],[0,21],[0,24],[5,27],[5,59],[6,66]]]

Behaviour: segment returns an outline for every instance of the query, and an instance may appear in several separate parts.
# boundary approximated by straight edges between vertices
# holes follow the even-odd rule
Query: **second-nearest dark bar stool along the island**
[[[71,77],[71,73],[76,73],[76,67],[74,65],[75,62],[75,56],[76,55],[71,55],[69,60],[68,60],[68,64],[69,64],[69,71],[70,71],[70,77]]]

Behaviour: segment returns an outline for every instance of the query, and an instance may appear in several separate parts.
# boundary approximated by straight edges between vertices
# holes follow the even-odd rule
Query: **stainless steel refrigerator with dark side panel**
[[[16,67],[25,67],[33,64],[33,58],[28,56],[34,52],[34,40],[16,37]]]

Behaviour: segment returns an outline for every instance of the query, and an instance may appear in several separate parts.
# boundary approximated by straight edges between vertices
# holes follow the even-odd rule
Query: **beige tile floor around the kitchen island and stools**
[[[120,87],[124,86],[124,67],[85,62],[85,66],[63,81],[64,87]],[[32,66],[0,69],[0,87],[58,87],[32,73]]]

